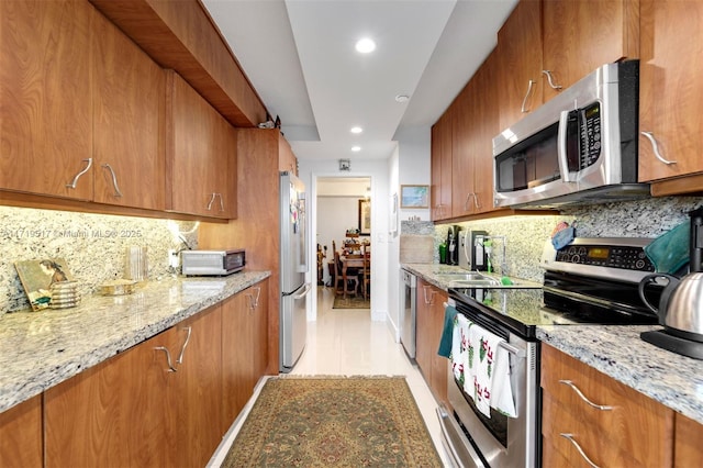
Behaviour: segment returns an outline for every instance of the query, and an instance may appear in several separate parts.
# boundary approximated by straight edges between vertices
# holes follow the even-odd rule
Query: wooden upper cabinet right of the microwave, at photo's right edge
[[[703,2],[641,1],[639,71],[639,180],[659,181],[654,194],[701,191],[703,176]]]

